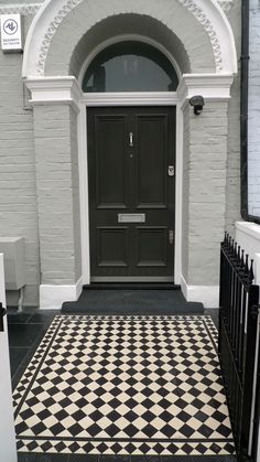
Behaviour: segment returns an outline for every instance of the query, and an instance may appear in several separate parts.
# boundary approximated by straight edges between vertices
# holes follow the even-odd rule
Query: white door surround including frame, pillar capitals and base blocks
[[[212,308],[217,305],[217,288],[188,286],[182,276],[182,190],[183,190],[183,109],[194,95],[204,96],[207,100],[227,100],[230,98],[232,75],[193,74],[183,75],[176,93],[127,93],[127,94],[83,94],[73,76],[34,77],[26,79],[31,92],[30,103],[34,105],[65,104],[72,105],[78,112],[78,163],[82,230],[82,278],[72,286],[42,284],[41,308],[61,308],[64,300],[76,300],[82,286],[90,282],[89,268],[89,224],[88,224],[88,185],[87,185],[87,139],[86,108],[90,106],[176,106],[176,198],[175,198],[175,260],[174,282],[182,284],[187,300],[194,297],[205,301]],[[210,298],[210,291],[213,297]],[[55,292],[55,300],[53,294]],[[58,293],[58,296],[57,296]]]

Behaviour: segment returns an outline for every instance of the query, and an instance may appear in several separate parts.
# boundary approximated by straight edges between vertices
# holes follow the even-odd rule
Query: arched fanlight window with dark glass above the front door
[[[83,90],[93,92],[175,92],[177,74],[169,58],[143,42],[115,43],[90,63]]]

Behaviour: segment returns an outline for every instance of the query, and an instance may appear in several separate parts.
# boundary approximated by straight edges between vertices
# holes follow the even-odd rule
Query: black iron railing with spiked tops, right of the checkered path
[[[226,233],[220,249],[219,359],[236,448],[256,451],[259,388],[259,286],[253,260]]]

